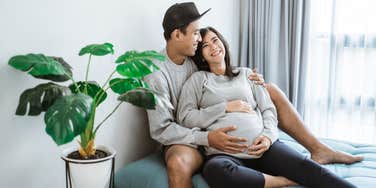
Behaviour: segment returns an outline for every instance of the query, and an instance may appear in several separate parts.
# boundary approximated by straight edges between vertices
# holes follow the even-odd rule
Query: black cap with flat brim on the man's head
[[[209,10],[200,14],[193,2],[176,3],[168,8],[164,15],[162,23],[164,32],[170,34],[175,29],[198,20]]]

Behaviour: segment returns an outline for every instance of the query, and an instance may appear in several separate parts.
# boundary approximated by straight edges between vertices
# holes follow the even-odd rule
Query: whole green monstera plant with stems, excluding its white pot
[[[72,67],[60,57],[43,54],[12,57],[8,64],[15,69],[38,79],[55,82],[42,83],[25,90],[20,96],[16,115],[37,116],[45,112],[45,130],[55,143],[66,144],[79,136],[79,154],[87,159],[96,152],[94,140],[98,129],[121,103],[128,102],[146,109],[154,109],[157,103],[169,104],[162,94],[149,89],[142,80],[144,76],[159,69],[153,61],[163,61],[163,55],[155,51],[127,51],[117,58],[116,68],[103,85],[89,81],[91,58],[108,54],[114,54],[110,43],[91,44],[80,50],[80,56],[89,56],[85,80],[82,81],[74,80]],[[115,73],[119,77],[113,78]],[[69,80],[70,84],[60,84]],[[119,104],[103,121],[94,125],[96,109],[106,100],[109,89],[119,95]]]

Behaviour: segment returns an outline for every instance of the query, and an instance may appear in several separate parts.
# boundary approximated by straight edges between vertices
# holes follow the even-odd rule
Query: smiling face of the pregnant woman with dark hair
[[[208,31],[202,40],[202,56],[211,64],[225,63],[226,50],[222,41],[212,31]]]

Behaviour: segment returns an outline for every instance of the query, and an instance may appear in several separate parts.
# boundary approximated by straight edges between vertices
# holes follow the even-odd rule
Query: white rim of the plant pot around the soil
[[[110,159],[113,159],[116,155],[115,149],[110,147],[110,146],[98,145],[98,146],[96,146],[96,149],[102,150],[102,151],[104,151],[104,152],[106,152],[110,155],[105,157],[105,158],[100,158],[100,159],[89,159],[89,160],[70,159],[67,156],[70,153],[78,150],[78,146],[72,146],[72,147],[69,147],[69,148],[66,148],[66,149],[63,150],[63,152],[61,153],[61,159],[63,159],[66,162],[69,162],[69,163],[93,164],[93,163],[100,163],[100,162],[108,161]]]

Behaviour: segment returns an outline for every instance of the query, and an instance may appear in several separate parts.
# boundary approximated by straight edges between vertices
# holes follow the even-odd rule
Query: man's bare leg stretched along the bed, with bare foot
[[[363,160],[363,157],[334,151],[321,143],[304,125],[299,113],[285,94],[275,84],[267,84],[267,90],[278,111],[279,128],[295,138],[311,152],[312,160],[320,164],[351,164]]]

